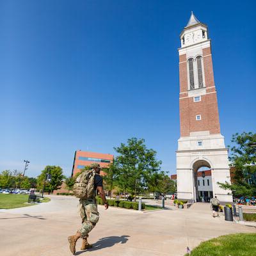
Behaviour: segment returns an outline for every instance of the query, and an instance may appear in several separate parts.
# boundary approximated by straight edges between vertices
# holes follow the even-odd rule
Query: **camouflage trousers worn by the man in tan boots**
[[[88,233],[99,221],[97,204],[93,199],[80,199],[79,212],[82,218],[82,227],[78,230],[82,237],[88,237]]]

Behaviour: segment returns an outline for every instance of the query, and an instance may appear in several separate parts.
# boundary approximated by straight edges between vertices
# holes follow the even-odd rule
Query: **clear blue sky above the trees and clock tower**
[[[203,4],[202,4],[203,3]],[[1,1],[0,170],[71,174],[77,149],[135,136],[175,173],[179,34],[209,26],[221,133],[253,131],[255,1]]]

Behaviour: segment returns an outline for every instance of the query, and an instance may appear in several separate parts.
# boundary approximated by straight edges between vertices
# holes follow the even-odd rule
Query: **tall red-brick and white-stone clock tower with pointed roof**
[[[218,185],[218,182],[230,183],[230,168],[228,150],[220,133],[211,40],[207,26],[196,19],[193,12],[180,34],[180,43],[177,196],[194,202],[201,200],[197,173],[198,169],[204,170],[202,167],[205,167],[211,170],[211,197],[217,196],[221,202],[232,202],[231,191]]]

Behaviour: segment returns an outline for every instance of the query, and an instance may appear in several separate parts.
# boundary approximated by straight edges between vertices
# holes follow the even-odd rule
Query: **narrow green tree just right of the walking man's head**
[[[103,180],[105,183],[105,188],[108,189],[108,191],[110,192],[110,198],[111,198],[112,190],[115,187],[116,179],[119,174],[119,170],[115,164],[115,161],[109,164],[108,168],[103,168],[102,172],[104,172]]]

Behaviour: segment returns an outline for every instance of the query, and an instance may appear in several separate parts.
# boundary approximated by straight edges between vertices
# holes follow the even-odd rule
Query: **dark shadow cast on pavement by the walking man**
[[[92,252],[92,251],[100,250],[102,248],[108,248],[118,243],[125,244],[128,241],[127,237],[130,237],[130,236],[109,236],[109,237],[100,238],[99,241],[97,241],[97,243],[93,244],[93,248],[90,248],[86,251],[77,252],[76,255],[79,255],[80,253],[87,252],[87,251]]]

